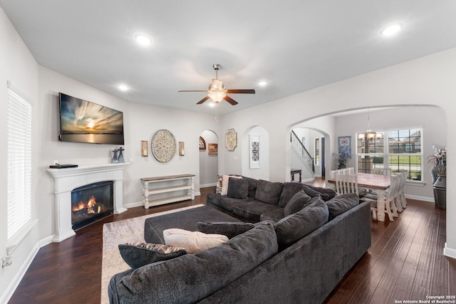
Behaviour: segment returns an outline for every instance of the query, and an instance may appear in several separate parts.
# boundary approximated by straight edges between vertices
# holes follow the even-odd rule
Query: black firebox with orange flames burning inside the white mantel
[[[114,211],[114,182],[88,184],[71,192],[71,225],[81,229]]]

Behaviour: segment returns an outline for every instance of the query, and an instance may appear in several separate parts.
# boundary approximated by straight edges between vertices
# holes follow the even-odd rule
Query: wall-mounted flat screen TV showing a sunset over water
[[[123,145],[123,112],[59,93],[62,142]]]

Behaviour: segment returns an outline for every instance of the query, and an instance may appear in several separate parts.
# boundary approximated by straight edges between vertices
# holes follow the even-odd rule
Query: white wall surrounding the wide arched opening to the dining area
[[[249,125],[264,127],[269,133],[270,142],[276,143],[274,146],[271,145],[269,151],[270,179],[289,180],[291,126],[333,112],[374,108],[378,105],[437,105],[446,112],[447,117],[455,117],[455,68],[456,48],[452,48],[225,115],[222,129],[234,127],[237,132],[242,133]],[[442,117],[433,118],[436,121],[442,120]],[[446,130],[447,133],[450,130],[456,130],[456,120],[447,120]],[[326,143],[334,145],[335,142]],[[456,153],[452,152],[456,150],[456,140],[448,138],[447,148],[448,158],[451,160],[456,157]],[[329,145],[326,145],[326,149],[331,151]],[[221,167],[222,170],[236,168],[240,166],[239,163],[239,160],[234,160],[232,157],[223,157]],[[327,168],[330,167],[330,165],[327,166]],[[456,179],[456,165],[452,165],[449,161],[447,183],[452,184],[454,179]],[[456,189],[448,187],[447,196],[455,195]],[[456,202],[447,200],[447,218],[452,219],[454,216],[456,216]],[[456,221],[447,221],[447,247],[445,248],[445,254],[456,257],[456,234],[450,231],[456,231]]]

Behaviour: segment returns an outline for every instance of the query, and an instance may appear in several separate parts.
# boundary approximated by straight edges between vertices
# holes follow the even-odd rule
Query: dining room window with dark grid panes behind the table
[[[423,130],[388,130],[357,135],[358,172],[371,173],[375,168],[389,168],[394,174],[408,170],[408,179],[422,181]]]

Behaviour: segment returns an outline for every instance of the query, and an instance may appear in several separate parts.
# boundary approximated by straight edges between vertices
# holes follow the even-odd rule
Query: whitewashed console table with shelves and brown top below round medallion
[[[142,178],[142,204],[144,204],[145,209],[148,209],[150,206],[195,199],[194,183],[195,174]],[[186,192],[186,194],[182,195],[182,192]],[[166,194],[170,194],[170,196]],[[152,197],[149,198],[149,196]]]

